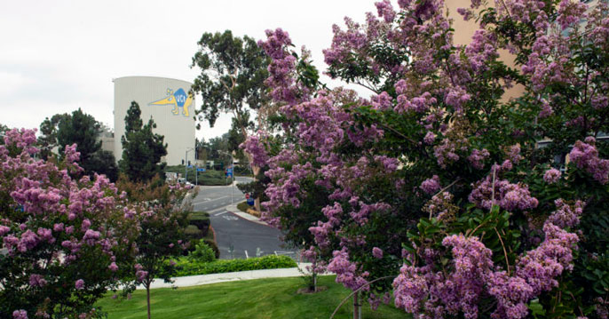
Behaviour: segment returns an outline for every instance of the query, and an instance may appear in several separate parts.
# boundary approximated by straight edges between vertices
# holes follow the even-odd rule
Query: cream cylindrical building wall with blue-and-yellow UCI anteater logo
[[[182,163],[186,150],[194,148],[194,99],[188,96],[191,83],[152,76],[126,76],[115,83],[115,148],[116,160],[123,155],[121,137],[125,133],[124,118],[131,101],[138,102],[144,124],[152,116],[154,132],[165,137],[169,165]],[[193,151],[190,151],[192,156]]]

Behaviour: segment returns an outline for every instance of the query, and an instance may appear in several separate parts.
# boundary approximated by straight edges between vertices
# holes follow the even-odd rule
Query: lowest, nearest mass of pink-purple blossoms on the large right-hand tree
[[[581,205],[576,203],[575,210],[581,209]],[[556,287],[556,278],[573,268],[572,251],[578,237],[554,222],[573,226],[577,213],[562,202],[557,206],[558,211],[544,224],[545,240],[519,258],[512,274],[494,265],[492,252],[477,237],[449,235],[442,244],[451,248],[450,271],[434,270],[433,259],[439,258],[437,254],[423,258],[426,265],[422,267],[405,264],[393,282],[396,307],[415,316],[445,318],[463,313],[464,317],[474,319],[479,316],[481,298],[488,294],[497,301],[492,318],[526,317],[526,303],[542,291]]]

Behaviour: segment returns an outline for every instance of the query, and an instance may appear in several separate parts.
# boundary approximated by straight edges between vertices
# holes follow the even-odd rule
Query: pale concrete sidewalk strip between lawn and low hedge
[[[261,278],[282,278],[282,277],[298,277],[303,273],[308,274],[306,267],[311,266],[309,263],[298,264],[298,267],[294,268],[280,268],[280,269],[263,269],[263,270],[249,270],[240,271],[234,273],[224,274],[210,274],[210,275],[188,275],[185,277],[174,277],[171,278],[174,283],[164,283],[162,279],[154,279],[154,282],[150,285],[150,288],[171,288],[171,287],[190,287],[198,286],[201,284],[210,283],[225,283],[233,282],[238,280],[251,280]],[[299,271],[298,269],[301,269]],[[143,285],[138,285],[137,289],[146,289]]]

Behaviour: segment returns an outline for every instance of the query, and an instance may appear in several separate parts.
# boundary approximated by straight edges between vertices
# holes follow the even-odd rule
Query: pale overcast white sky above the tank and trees
[[[38,128],[45,117],[77,108],[114,126],[113,78],[161,76],[193,81],[190,68],[204,32],[265,38],[283,28],[297,47],[322,50],[344,16],[363,21],[375,0],[8,1],[0,0],[0,124]],[[201,98],[196,101],[201,105]],[[222,135],[230,116],[198,138]]]

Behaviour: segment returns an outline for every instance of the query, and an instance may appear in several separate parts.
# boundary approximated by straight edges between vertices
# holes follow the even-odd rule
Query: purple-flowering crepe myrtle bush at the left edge
[[[137,234],[124,195],[64,160],[36,160],[35,131],[5,132],[0,146],[0,317],[101,317],[93,304],[131,273]]]

